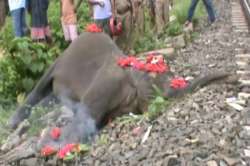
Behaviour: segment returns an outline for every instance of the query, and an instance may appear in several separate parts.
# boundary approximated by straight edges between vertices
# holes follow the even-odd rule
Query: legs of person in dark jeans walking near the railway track
[[[210,21],[210,23],[213,23],[216,18],[215,18],[212,0],[202,0],[202,1],[206,7],[209,21]],[[186,26],[192,25],[192,18],[193,18],[194,11],[195,11],[195,8],[196,8],[198,2],[199,2],[199,0],[192,0],[191,5],[190,5],[189,10],[188,10],[188,18],[187,18],[187,21],[185,23]]]

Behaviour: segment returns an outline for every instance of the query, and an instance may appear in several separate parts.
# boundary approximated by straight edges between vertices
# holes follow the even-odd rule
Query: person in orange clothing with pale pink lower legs
[[[78,34],[74,0],[61,0],[61,23],[65,40],[75,40]]]

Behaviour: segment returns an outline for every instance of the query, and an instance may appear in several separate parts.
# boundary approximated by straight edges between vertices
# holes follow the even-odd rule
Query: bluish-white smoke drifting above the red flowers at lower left
[[[61,135],[58,140],[52,139],[50,132],[53,127],[47,127],[38,141],[38,150],[46,145],[59,149],[70,143],[91,143],[97,134],[96,122],[85,104],[63,96],[59,99],[62,104],[61,113],[53,126],[60,127]]]

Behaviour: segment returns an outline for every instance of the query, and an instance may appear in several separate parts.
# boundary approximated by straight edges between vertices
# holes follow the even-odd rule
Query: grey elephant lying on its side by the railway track
[[[132,68],[124,69],[117,65],[117,59],[123,56],[108,35],[83,32],[55,60],[25,103],[17,108],[9,120],[10,127],[15,129],[29,117],[31,107],[47,97],[56,97],[60,102],[66,98],[75,114],[72,122],[62,128],[64,134],[59,144],[82,142],[86,134],[94,134],[95,129],[102,128],[110,118],[147,111],[154,96],[153,85],[163,90],[164,97],[171,98],[229,76],[226,72],[216,72],[194,79],[185,88],[173,89],[170,80],[174,74],[170,71],[152,75]]]

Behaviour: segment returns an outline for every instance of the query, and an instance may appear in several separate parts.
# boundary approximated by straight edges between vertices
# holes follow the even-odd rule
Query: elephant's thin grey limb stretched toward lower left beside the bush
[[[53,71],[56,62],[52,64],[49,69],[44,73],[42,78],[38,81],[34,89],[27,96],[24,104],[19,106],[13,116],[9,119],[8,125],[11,129],[16,129],[18,125],[31,113],[32,106],[39,103],[43,98],[51,94]]]

